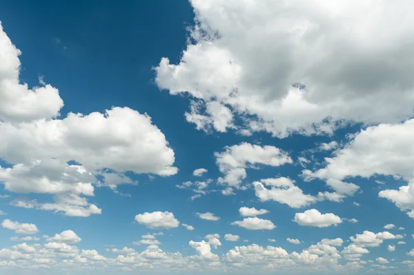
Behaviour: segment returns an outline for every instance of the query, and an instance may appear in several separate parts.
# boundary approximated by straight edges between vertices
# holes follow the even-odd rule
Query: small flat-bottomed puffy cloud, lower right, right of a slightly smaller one
[[[342,223],[342,218],[333,213],[321,214],[321,212],[311,209],[304,213],[296,213],[294,221],[303,226],[328,227]]]

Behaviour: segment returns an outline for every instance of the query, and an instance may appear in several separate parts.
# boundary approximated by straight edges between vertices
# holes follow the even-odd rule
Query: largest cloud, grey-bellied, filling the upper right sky
[[[411,2],[190,3],[191,42],[179,63],[161,59],[156,82],[191,96],[198,129],[235,128],[239,114],[242,134],[284,137],[413,115]]]

